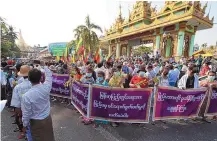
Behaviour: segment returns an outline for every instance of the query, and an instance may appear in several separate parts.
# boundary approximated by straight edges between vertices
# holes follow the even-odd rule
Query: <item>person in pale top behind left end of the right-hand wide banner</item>
[[[159,81],[155,85],[169,87],[170,85],[168,80],[168,73],[169,73],[169,69],[164,68],[161,76],[158,77]]]

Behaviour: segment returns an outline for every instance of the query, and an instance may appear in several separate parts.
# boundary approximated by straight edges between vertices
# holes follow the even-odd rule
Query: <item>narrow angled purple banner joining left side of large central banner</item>
[[[89,86],[73,81],[71,85],[72,104],[83,115],[88,113],[88,93]]]

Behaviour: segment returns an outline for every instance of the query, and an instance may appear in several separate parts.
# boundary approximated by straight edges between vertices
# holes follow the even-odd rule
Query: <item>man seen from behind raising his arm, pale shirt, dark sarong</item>
[[[22,97],[21,110],[23,131],[30,123],[33,141],[54,141],[52,119],[50,115],[50,91],[52,87],[52,72],[41,62],[45,70],[45,82],[40,83],[41,71],[32,69],[28,78],[32,88]]]

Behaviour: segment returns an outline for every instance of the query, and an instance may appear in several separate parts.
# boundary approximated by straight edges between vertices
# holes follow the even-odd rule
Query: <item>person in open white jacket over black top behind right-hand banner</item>
[[[189,88],[199,88],[199,78],[195,74],[195,67],[188,67],[188,72],[178,82],[178,88],[189,89]]]

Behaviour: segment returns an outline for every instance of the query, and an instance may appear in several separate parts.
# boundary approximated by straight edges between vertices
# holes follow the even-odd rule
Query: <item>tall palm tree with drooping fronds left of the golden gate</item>
[[[91,23],[90,17],[87,15],[85,25],[79,25],[76,29],[74,29],[75,38],[78,41],[81,37],[83,39],[84,46],[93,51],[99,43],[99,38],[95,32],[96,30],[102,32],[101,27]]]

